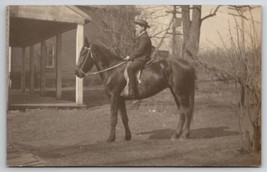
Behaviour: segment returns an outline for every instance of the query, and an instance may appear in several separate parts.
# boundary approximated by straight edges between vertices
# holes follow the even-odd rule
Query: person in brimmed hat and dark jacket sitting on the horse
[[[125,57],[125,60],[132,61],[127,68],[129,76],[129,96],[137,99],[138,90],[135,74],[150,60],[152,44],[146,32],[146,29],[150,28],[148,23],[145,20],[136,20],[134,23],[137,39],[133,53]]]

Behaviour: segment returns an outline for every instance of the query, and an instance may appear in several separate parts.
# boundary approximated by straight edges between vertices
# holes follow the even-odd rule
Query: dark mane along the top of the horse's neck
[[[109,58],[113,58],[113,59],[117,59],[117,60],[122,60],[123,58],[120,57],[116,51],[107,46],[106,44],[104,44],[103,42],[100,41],[94,41],[91,43],[92,47],[96,47],[99,51],[101,51],[105,56],[109,57]]]

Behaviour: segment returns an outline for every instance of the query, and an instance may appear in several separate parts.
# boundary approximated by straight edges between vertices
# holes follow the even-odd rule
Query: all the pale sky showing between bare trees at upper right
[[[154,35],[157,32],[160,32],[167,28],[172,14],[167,15],[166,11],[172,10],[172,6],[138,6],[144,12],[141,14],[141,18],[146,19],[151,28],[148,30],[150,35]],[[217,5],[203,5],[202,6],[202,18],[206,15],[209,15],[216,9]],[[178,8],[178,7],[177,7]],[[178,9],[177,11],[181,11]],[[153,13],[153,16],[151,15]],[[240,17],[236,18],[236,21],[232,15],[229,13],[233,13],[232,10],[228,9],[228,6],[221,6],[217,11],[216,15],[210,17],[202,22],[201,25],[201,35],[200,35],[200,51],[205,51],[211,48],[223,47],[224,43],[229,43],[230,34],[232,33],[232,37],[236,40],[236,21],[240,23]],[[148,17],[147,17],[148,16]],[[159,17],[157,17],[159,16]],[[246,16],[250,17],[250,14],[247,12]],[[258,6],[252,10],[252,16],[255,20],[255,27],[258,31],[259,38],[261,37],[261,7]],[[181,17],[180,14],[177,14],[177,17]],[[152,19],[151,19],[152,18]],[[251,20],[250,20],[251,21]],[[249,33],[249,21],[245,21],[245,32]],[[172,28],[172,27],[171,27]],[[169,32],[171,32],[171,28]],[[179,29],[178,29],[179,30]],[[180,30],[182,30],[180,28]],[[159,37],[163,36],[165,32],[162,32]],[[171,35],[167,34],[167,38],[164,39],[163,44],[160,49],[170,50],[171,49]],[[248,35],[247,35],[247,38]],[[223,40],[222,40],[223,39]],[[154,46],[157,46],[160,42],[161,38],[152,38],[152,43]],[[180,42],[181,43],[181,42]]]

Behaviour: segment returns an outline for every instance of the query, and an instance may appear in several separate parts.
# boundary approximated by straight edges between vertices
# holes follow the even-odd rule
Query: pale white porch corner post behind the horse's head
[[[84,25],[77,25],[76,34],[76,63],[79,60],[80,51],[83,46]],[[83,79],[76,77],[76,103],[83,104]]]

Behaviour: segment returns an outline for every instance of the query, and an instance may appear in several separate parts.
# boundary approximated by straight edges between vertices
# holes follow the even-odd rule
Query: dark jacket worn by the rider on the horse
[[[150,60],[151,50],[151,40],[147,32],[143,32],[136,39],[136,42],[134,44],[134,51],[130,55],[130,59],[146,63]]]

